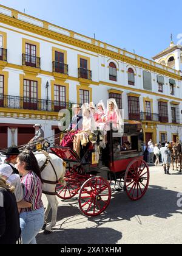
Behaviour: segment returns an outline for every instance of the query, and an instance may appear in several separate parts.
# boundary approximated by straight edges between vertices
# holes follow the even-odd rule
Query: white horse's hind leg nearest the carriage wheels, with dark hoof
[[[57,219],[57,213],[58,213],[58,200],[56,196],[48,196],[47,200],[50,203],[50,207],[52,208],[52,220],[50,222],[50,225],[46,227],[44,230],[45,235],[49,235],[52,232],[52,228],[56,226],[56,219]]]

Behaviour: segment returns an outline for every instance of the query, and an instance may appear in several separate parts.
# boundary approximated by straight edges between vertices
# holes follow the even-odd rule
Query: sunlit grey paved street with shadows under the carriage
[[[123,192],[113,193],[107,212],[97,218],[81,215],[76,197],[59,201],[57,225],[49,236],[40,232],[38,243],[182,243],[182,207],[177,206],[182,176],[177,171],[165,176],[162,167],[154,166],[150,174],[150,187],[141,201],[132,202]]]

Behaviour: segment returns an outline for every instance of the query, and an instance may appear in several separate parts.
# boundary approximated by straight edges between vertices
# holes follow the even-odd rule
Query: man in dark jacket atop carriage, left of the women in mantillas
[[[83,127],[82,110],[77,104],[73,104],[72,109],[73,109],[73,118],[68,130],[82,130],[82,127]]]

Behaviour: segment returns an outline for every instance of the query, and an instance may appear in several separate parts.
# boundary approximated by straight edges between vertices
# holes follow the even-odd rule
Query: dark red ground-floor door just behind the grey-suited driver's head
[[[27,144],[35,136],[35,129],[33,127],[19,127],[18,128],[18,146]]]

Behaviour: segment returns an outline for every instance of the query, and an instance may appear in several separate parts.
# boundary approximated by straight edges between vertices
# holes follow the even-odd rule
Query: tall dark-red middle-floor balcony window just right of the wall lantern
[[[66,87],[61,85],[54,86],[55,111],[66,108]]]

